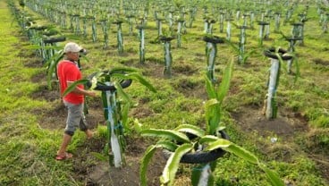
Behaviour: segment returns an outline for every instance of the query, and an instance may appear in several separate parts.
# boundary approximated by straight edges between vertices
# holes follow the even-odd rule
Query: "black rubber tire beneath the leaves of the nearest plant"
[[[224,131],[220,131],[222,138],[230,139],[230,137]],[[209,152],[196,152],[188,153],[181,157],[181,163],[183,164],[205,164],[208,162],[213,162],[219,157],[224,156],[226,151],[222,148],[218,148]]]

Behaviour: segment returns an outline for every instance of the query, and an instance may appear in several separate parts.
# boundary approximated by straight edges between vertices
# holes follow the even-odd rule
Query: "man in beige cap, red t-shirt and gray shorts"
[[[81,72],[77,63],[81,50],[83,50],[82,47],[72,42],[67,43],[64,47],[64,60],[57,65],[57,76],[61,94],[74,81],[81,79]],[[57,151],[56,160],[64,160],[72,157],[71,153],[66,152],[66,148],[76,128],[80,127],[80,130],[86,133],[88,139],[93,135],[92,131],[88,128],[83,113],[84,96],[96,97],[97,95],[93,91],[83,89],[83,85],[78,85],[72,92],[63,97],[63,104],[68,108],[68,115],[63,134],[63,142]]]

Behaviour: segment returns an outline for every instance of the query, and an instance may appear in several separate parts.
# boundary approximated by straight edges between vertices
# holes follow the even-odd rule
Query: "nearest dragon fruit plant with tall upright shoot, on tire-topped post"
[[[147,129],[141,131],[142,136],[161,138],[155,145],[147,148],[141,159],[139,168],[141,186],[148,184],[148,164],[155,154],[156,148],[170,152],[160,177],[162,185],[173,185],[180,163],[195,164],[191,178],[193,186],[214,185],[212,172],[215,170],[215,161],[218,157],[224,156],[224,151],[258,165],[266,173],[272,185],[284,185],[277,173],[269,170],[249,151],[229,141],[227,134],[223,131],[224,126],[221,126],[223,100],[230,88],[232,68],[233,61],[225,68],[223,81],[217,88],[206,76],[207,95],[209,97],[205,104],[206,130],[191,124],[181,124],[174,130]]]

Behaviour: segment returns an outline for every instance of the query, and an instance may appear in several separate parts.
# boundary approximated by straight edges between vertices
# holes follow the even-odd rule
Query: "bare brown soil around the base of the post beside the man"
[[[78,156],[73,160],[74,169],[78,179],[83,179],[85,185],[108,185],[108,186],[139,186],[139,165],[146,150],[147,141],[126,137],[127,149],[125,152],[126,165],[122,168],[115,168],[107,161],[97,161],[95,165],[84,164],[83,159],[88,157]],[[90,152],[102,152],[105,147],[105,139],[91,139],[79,150],[86,149],[87,156]],[[87,147],[86,147],[87,146]],[[165,166],[165,156],[156,152],[148,166],[148,185],[159,185],[159,176]]]

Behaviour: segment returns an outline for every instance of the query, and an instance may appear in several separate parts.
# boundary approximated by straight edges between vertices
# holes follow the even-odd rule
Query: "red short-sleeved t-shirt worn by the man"
[[[64,90],[68,87],[67,82],[80,80],[81,72],[78,68],[77,63],[68,60],[63,60],[57,65],[57,76],[60,84],[61,94],[63,94]],[[83,89],[83,85],[78,85],[78,87],[80,89]],[[72,104],[81,104],[83,103],[84,96],[81,94],[70,92],[65,97],[63,97],[63,100]]]

